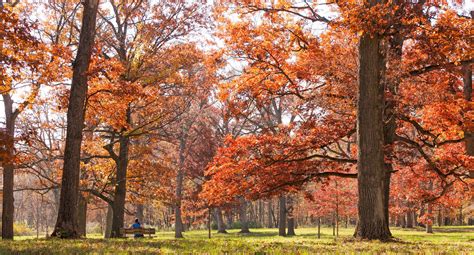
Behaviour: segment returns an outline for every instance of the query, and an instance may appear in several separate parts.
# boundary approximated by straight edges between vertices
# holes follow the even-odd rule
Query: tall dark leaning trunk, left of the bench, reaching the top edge
[[[82,129],[87,96],[87,71],[94,46],[98,0],[85,0],[77,56],[73,64],[71,94],[67,112],[66,146],[61,180],[59,211],[52,236],[77,238],[77,200]]]

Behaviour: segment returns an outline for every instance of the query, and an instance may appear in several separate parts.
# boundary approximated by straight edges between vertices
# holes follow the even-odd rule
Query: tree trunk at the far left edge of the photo
[[[3,201],[2,201],[2,239],[13,239],[14,221],[14,135],[16,114],[13,111],[13,100],[10,94],[3,94],[6,121],[6,158],[3,164]]]

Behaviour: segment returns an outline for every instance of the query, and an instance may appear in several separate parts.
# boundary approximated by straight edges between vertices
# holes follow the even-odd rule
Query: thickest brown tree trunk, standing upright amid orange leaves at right
[[[380,3],[369,1],[371,6]],[[357,109],[358,216],[355,236],[391,237],[386,211],[387,174],[384,163],[384,56],[379,35],[364,34],[359,42],[359,100]]]

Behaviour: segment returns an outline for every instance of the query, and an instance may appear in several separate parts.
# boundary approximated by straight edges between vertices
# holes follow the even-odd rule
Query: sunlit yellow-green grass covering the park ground
[[[251,229],[251,234],[216,234],[208,239],[207,231],[185,232],[176,240],[173,232],[157,232],[154,238],[58,240],[18,237],[0,241],[0,254],[474,254],[474,227],[434,228],[434,234],[422,229],[392,228],[397,241],[356,241],[352,228],[341,228],[339,237],[332,229],[298,228],[296,236],[280,237],[277,229]]]

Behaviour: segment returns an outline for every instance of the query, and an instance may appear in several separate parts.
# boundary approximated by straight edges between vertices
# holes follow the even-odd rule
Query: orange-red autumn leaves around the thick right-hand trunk
[[[393,150],[396,171],[416,165],[418,174],[412,178],[430,173],[433,187],[425,200],[456,192],[451,187],[457,185],[469,187],[466,177],[474,159],[464,151],[463,130],[472,124],[472,104],[463,99],[460,65],[473,58],[471,20],[445,11],[448,6],[440,2],[389,2],[366,11],[343,1],[334,4],[339,17],[318,34],[311,30],[314,14],[308,16],[317,4],[234,4],[238,8],[221,7],[226,15],[218,35],[225,42],[224,58],[240,65],[220,85],[221,100],[229,102],[231,116],[250,123],[275,98],[289,110],[284,124],[256,125],[248,134],[227,139],[208,166],[211,180],[204,198],[219,205],[242,195],[272,196],[304,188],[324,171],[355,170],[345,165],[355,162],[355,46],[361,33],[383,36],[386,46],[392,36],[404,38],[401,62],[389,58],[386,72],[386,79],[398,84],[395,92],[386,93],[396,102],[391,118],[397,118],[397,142],[387,148]]]

